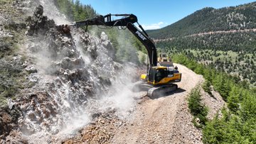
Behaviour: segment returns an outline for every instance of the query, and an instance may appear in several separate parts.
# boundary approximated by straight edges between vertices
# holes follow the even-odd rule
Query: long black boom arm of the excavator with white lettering
[[[119,18],[117,20],[112,20],[112,16],[122,16],[122,18]],[[157,65],[157,54],[156,54],[156,47],[149,38],[149,35],[147,35],[146,31],[142,28],[141,25],[139,25],[139,30],[136,26],[134,26],[134,23],[138,23],[137,16],[134,16],[133,14],[108,14],[106,16],[96,16],[95,18],[89,18],[85,21],[78,21],[75,22],[74,25],[76,27],[80,26],[126,26],[129,31],[132,32],[138,38],[140,42],[146,47],[146,50],[149,55],[149,65],[150,67],[154,67]]]

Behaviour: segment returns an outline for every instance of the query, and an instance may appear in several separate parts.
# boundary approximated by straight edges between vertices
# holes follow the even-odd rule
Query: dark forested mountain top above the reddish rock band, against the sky
[[[222,9],[204,8],[158,30],[147,31],[154,39],[173,38],[211,31],[256,28],[256,2]]]

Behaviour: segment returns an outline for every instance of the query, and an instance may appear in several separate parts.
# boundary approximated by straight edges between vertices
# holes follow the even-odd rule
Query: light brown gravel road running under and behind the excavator
[[[140,104],[134,120],[117,129],[112,143],[202,143],[201,132],[191,123],[186,97],[203,77],[177,66],[182,73],[178,92]]]

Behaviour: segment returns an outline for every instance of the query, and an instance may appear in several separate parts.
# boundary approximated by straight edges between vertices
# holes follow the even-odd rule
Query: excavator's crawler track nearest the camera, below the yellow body
[[[157,99],[161,96],[165,96],[170,92],[174,92],[176,89],[178,89],[177,84],[164,84],[161,86],[151,87],[151,89],[148,90],[147,95],[151,99]]]

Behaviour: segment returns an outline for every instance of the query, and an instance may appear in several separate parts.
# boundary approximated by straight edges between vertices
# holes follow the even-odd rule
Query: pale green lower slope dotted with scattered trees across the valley
[[[221,72],[232,74],[239,81],[249,82],[256,86],[255,52],[233,52],[222,50],[200,50],[186,48],[165,48],[170,55],[183,52],[199,63],[214,67]]]

